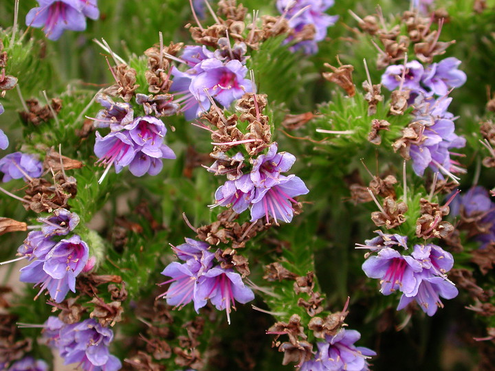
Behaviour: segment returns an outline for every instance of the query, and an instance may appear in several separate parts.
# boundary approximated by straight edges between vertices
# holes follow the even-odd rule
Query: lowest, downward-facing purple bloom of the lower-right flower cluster
[[[397,311],[405,308],[412,300],[416,300],[423,312],[431,317],[437,313],[437,308],[443,308],[440,297],[453,299],[459,294],[452,282],[443,277],[434,276],[431,269],[419,273],[419,280],[421,284],[419,284],[417,293],[412,296],[402,295]]]

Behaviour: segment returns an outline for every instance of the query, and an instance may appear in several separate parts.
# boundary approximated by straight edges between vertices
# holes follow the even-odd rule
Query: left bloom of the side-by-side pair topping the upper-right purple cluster
[[[423,65],[417,60],[411,60],[406,64],[406,74],[402,87],[415,92],[423,92],[424,89],[419,85],[423,72]],[[404,65],[388,66],[382,75],[382,85],[390,91],[397,89],[401,83],[402,74],[404,74]]]

